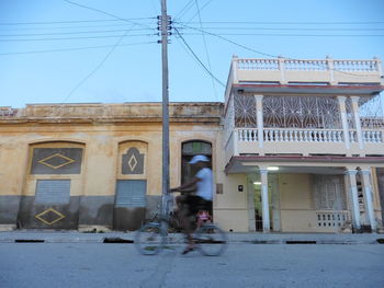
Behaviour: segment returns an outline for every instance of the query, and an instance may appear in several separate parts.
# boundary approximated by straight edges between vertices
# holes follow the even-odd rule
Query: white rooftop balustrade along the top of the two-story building
[[[287,83],[383,83],[382,62],[380,59],[336,60],[314,59],[298,60],[240,59],[235,57],[229,71],[226,101],[230,87],[241,82],[279,82]]]

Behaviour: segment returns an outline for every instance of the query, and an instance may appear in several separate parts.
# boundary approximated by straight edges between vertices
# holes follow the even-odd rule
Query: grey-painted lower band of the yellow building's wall
[[[161,196],[147,196],[147,207],[115,207],[115,196],[71,196],[68,204],[36,204],[34,196],[0,196],[0,229],[134,231],[160,216]]]

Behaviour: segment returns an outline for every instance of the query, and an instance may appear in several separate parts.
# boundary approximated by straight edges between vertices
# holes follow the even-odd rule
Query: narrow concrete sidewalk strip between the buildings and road
[[[172,241],[183,241],[180,233],[170,234]],[[340,233],[240,233],[228,232],[229,243],[249,244],[379,244],[384,234]],[[15,230],[0,232],[0,243],[133,243],[135,232],[86,233],[78,231]]]

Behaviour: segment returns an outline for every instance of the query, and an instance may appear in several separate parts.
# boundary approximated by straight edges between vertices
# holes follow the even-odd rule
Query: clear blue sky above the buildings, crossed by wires
[[[111,15],[65,0],[0,0],[0,106],[161,101],[160,1],[70,1]],[[383,0],[168,0],[168,14],[224,83],[234,54],[384,59]],[[170,101],[223,101],[183,39],[170,39]]]

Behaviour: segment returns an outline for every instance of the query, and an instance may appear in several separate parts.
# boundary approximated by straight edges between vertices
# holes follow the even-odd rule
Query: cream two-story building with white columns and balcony
[[[221,221],[282,232],[382,224],[381,69],[377,59],[234,57],[224,106]]]

